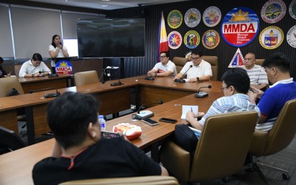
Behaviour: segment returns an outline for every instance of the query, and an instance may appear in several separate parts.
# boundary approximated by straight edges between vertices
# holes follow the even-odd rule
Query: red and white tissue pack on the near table
[[[113,132],[121,131],[126,135],[128,140],[136,139],[141,136],[142,129],[137,125],[131,125],[129,123],[119,123],[118,125],[113,126]]]

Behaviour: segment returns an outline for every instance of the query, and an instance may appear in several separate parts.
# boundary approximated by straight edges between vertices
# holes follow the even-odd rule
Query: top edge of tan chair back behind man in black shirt
[[[60,185],[94,185],[94,184],[142,184],[142,185],[178,185],[177,179],[173,176],[135,176],[135,177],[121,177],[108,179],[88,179],[80,181],[68,181]]]

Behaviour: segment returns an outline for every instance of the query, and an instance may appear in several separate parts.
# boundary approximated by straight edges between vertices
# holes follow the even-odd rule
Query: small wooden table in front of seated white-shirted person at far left
[[[67,74],[59,74],[57,77],[51,78],[49,78],[48,75],[44,77],[19,78],[19,82],[21,83],[24,93],[39,91],[46,88],[68,88],[75,85],[74,76]]]

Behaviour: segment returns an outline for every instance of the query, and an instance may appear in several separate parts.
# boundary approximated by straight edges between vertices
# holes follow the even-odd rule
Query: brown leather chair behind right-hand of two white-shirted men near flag
[[[203,56],[203,60],[207,61],[208,63],[210,63],[210,65],[212,65],[213,76],[212,76],[212,78],[210,78],[210,80],[217,81],[218,80],[218,72],[219,72],[218,57],[217,56]],[[174,57],[173,58],[173,63],[175,63],[177,73],[180,73],[180,70],[182,70],[183,66],[187,62],[188,62],[187,58],[183,58],[183,57]]]

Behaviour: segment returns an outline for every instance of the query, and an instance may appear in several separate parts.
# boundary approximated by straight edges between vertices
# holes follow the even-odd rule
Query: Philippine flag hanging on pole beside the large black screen
[[[168,51],[168,35],[166,34],[165,30],[165,18],[163,17],[163,12],[161,12],[158,41],[158,56],[156,57],[156,61],[159,62],[159,54],[163,51]]]

